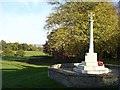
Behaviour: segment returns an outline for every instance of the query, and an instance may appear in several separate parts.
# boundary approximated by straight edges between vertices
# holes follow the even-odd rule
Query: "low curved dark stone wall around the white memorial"
[[[48,76],[67,87],[94,88],[118,85],[118,76],[112,72],[101,75],[81,74],[72,71],[73,65],[69,66],[69,64],[64,64],[63,67],[62,64],[53,65],[48,69]]]

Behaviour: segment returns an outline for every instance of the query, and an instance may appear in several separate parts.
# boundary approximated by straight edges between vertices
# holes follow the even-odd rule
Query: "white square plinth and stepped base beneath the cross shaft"
[[[83,74],[104,74],[110,72],[108,68],[98,66],[97,53],[86,53],[85,61],[82,61],[74,69],[76,72]]]

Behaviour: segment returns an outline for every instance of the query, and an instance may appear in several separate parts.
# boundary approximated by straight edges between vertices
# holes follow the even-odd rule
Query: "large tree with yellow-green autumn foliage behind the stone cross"
[[[94,42],[95,50],[101,57],[103,51],[114,53],[116,43],[113,37],[117,31],[117,9],[108,2],[69,2],[54,8],[46,20],[45,29],[52,30],[48,35],[46,47],[48,51],[56,51],[63,47],[69,55],[84,58],[89,42],[89,17],[90,12],[94,17]],[[104,47],[104,48],[103,48]]]

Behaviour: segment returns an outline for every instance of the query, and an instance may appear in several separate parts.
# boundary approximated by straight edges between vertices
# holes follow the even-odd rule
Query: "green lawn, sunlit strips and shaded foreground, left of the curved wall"
[[[25,51],[25,57],[2,58],[2,88],[64,88],[48,77],[49,65],[33,65],[20,60],[44,56],[43,52]]]

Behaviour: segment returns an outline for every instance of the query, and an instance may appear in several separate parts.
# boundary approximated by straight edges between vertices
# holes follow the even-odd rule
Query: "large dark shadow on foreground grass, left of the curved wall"
[[[23,66],[23,69],[3,69],[2,87],[5,88],[64,88],[48,77],[48,67]]]

